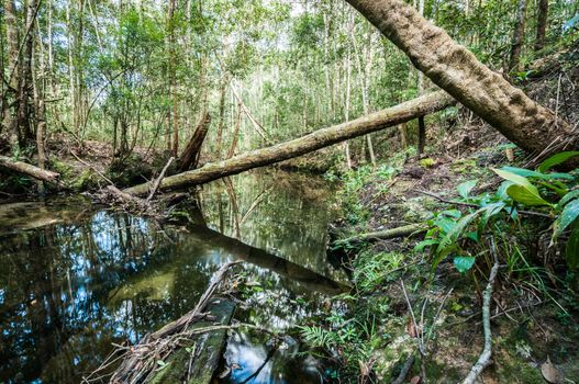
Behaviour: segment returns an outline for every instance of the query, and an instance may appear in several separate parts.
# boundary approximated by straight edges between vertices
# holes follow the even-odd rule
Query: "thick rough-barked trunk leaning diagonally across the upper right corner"
[[[402,0],[347,0],[435,84],[511,142],[541,157],[578,148],[579,135]]]

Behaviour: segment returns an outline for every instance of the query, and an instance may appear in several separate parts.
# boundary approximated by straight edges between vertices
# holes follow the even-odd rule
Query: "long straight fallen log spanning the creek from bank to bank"
[[[269,166],[442,111],[455,103],[456,101],[444,91],[426,94],[352,122],[315,131],[290,142],[253,150],[227,160],[208,163],[202,168],[165,178],[160,184],[160,190],[202,184],[253,168]],[[149,183],[147,182],[124,191],[134,195],[145,195],[148,190]]]

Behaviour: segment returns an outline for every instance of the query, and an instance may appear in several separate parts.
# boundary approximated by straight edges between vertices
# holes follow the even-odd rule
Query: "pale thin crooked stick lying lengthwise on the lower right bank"
[[[494,264],[490,271],[489,282],[487,289],[482,294],[482,329],[485,334],[485,348],[480,354],[477,363],[470,370],[468,376],[463,381],[463,384],[472,384],[479,374],[491,363],[492,357],[492,331],[490,328],[490,304],[492,300],[492,290],[494,285],[494,279],[499,272],[499,258],[497,257],[497,249],[494,248],[494,239],[490,238],[490,250],[494,259]]]

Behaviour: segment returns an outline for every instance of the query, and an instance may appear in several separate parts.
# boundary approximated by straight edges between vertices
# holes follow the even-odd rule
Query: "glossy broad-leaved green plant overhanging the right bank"
[[[537,170],[515,167],[492,169],[504,182],[494,193],[470,195],[477,180],[458,185],[460,200],[457,203],[472,204],[465,213],[453,210],[443,211],[428,222],[431,229],[415,251],[430,247],[433,255],[432,268],[448,256],[454,257],[454,264],[460,272],[470,270],[476,261],[476,249],[481,239],[497,231],[504,230],[508,223],[520,225],[520,208],[542,208],[537,214],[553,217],[553,241],[556,241],[569,227],[565,257],[569,269],[579,263],[577,252],[579,231],[579,192],[576,172],[547,172],[578,154],[558,154],[545,160]]]

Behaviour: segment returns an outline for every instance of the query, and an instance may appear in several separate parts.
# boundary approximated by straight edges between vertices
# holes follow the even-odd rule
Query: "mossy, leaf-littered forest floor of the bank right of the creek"
[[[527,92],[577,118],[578,69],[568,81],[565,98],[561,76],[553,74],[530,82]],[[450,257],[433,269],[428,252],[415,250],[423,233],[372,242],[339,240],[425,223],[450,210],[466,215],[468,207],[435,196],[461,200],[457,187],[472,179],[478,180],[472,194],[494,191],[500,180],[491,168],[524,167],[527,160],[465,111],[457,113],[453,128],[431,125],[428,140],[421,157],[401,149],[377,167],[330,173],[342,183],[332,255],[350,270],[355,290],[336,297],[329,316],[312,323],[318,334],[313,328],[302,334],[342,364],[339,377],[391,382],[413,355],[416,362],[404,381],[410,382],[421,375],[423,354],[431,383],[456,383],[483,349],[481,304],[493,264],[490,246],[481,247],[472,269],[461,273]],[[499,233],[500,269],[490,306],[493,354],[480,382],[579,383],[578,278],[550,247],[550,223],[545,222],[521,218]]]

